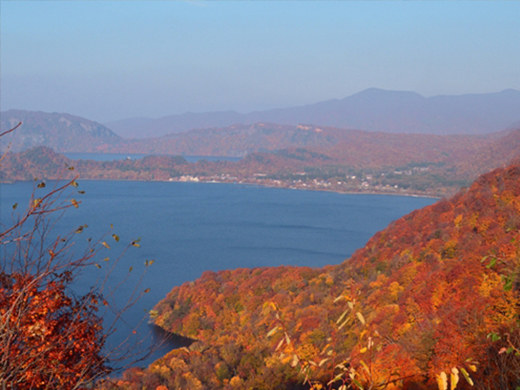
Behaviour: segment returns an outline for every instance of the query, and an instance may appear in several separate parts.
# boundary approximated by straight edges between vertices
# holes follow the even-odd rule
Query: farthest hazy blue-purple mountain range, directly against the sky
[[[419,134],[485,134],[519,122],[520,91],[423,97],[370,88],[344,99],[240,114],[219,111],[129,118],[106,126],[124,138],[150,138],[191,129],[270,122]]]

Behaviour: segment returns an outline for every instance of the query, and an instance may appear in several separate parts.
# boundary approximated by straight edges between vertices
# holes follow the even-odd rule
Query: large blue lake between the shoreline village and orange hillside
[[[14,203],[20,208],[27,204],[33,186],[27,182],[0,186],[2,224],[9,224]],[[109,282],[115,286],[129,267],[134,268],[117,293],[119,304],[132,293],[144,262],[155,260],[141,288],[151,291],[126,313],[126,324],[121,323],[110,338],[113,344],[131,334],[144,310],[152,309],[172,287],[194,280],[206,270],[338,264],[391,221],[435,202],[211,183],[79,181],[78,189],[86,191],[85,195],[74,195],[82,201],[80,207],[69,209],[55,227],[55,233],[62,234],[89,225],[85,233],[77,235],[76,250],[88,237],[110,232],[106,241],[112,249],[103,250],[99,261],[106,268],[110,263],[101,259],[115,258],[128,243],[141,237],[141,248],[128,250]],[[43,194],[44,190],[37,191]],[[120,236],[119,243],[112,239],[112,233]],[[77,288],[86,289],[103,272],[95,267],[87,270]],[[145,343],[158,337],[146,320],[133,337],[145,336]],[[174,345],[165,345],[140,365]]]

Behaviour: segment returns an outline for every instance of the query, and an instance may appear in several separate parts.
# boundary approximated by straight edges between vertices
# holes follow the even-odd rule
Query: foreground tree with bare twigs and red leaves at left
[[[0,138],[18,126],[0,134]],[[66,172],[71,171],[73,168],[68,167]],[[60,215],[81,203],[72,197],[74,192],[82,193],[76,188],[76,180],[77,176],[58,181],[50,190],[43,181],[35,184],[27,209],[13,214],[10,226],[0,227],[2,390],[85,388],[117,369],[118,359],[131,354],[128,348],[106,348],[107,337],[115,331],[124,311],[148,290],[140,291],[136,286],[127,304],[116,307],[110,299],[114,290],[108,291],[105,286],[110,269],[128,248],[139,244],[131,242],[87,293],[74,292],[74,281],[81,272],[87,267],[101,268],[96,258],[109,248],[103,238],[87,239],[80,254],[72,253],[73,243],[86,225],[66,235],[52,236]],[[14,213],[17,206],[13,205]],[[115,234],[111,238],[119,241]],[[112,324],[103,324],[101,308],[113,312]]]

